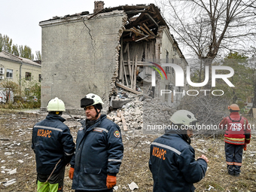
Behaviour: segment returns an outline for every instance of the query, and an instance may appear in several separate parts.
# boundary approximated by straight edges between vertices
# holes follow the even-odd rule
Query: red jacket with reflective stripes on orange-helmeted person
[[[230,113],[229,117],[224,117],[219,124],[221,130],[226,130],[224,141],[233,145],[244,145],[250,143],[251,127],[245,117],[238,112]]]

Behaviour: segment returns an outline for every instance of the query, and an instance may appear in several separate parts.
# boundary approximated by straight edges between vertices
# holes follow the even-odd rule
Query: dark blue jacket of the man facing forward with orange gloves
[[[70,163],[75,168],[72,189],[107,190],[107,175],[116,175],[123,159],[120,128],[106,115],[89,127],[81,123]]]

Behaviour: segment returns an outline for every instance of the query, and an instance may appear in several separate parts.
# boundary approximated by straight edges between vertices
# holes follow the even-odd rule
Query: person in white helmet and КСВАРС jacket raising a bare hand
[[[194,183],[206,175],[208,158],[203,154],[195,160],[190,136],[197,119],[190,111],[172,114],[172,129],[151,143],[149,168],[154,179],[154,192],[194,191]]]

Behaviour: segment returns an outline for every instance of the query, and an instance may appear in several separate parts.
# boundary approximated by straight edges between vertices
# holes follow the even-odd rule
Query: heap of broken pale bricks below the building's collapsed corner
[[[144,99],[144,100],[143,100]],[[123,130],[143,130],[147,125],[168,124],[175,111],[160,99],[145,99],[133,93],[121,90],[114,101],[126,103],[121,108],[112,110],[108,118],[122,127]],[[142,101],[143,100],[143,101]]]

